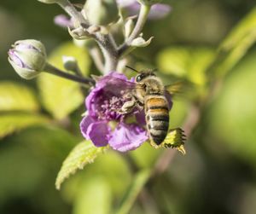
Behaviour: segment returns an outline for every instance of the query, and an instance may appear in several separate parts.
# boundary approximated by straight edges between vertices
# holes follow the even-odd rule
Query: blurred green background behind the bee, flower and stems
[[[172,5],[172,14],[148,21],[144,35],[153,35],[154,42],[138,49],[135,56],[143,63],[151,62],[162,75],[186,77],[198,85],[206,82],[202,70],[214,50],[256,6],[252,0],[164,2]],[[84,73],[95,70],[87,52],[67,43],[67,31],[53,23],[61,13],[57,5],[38,1],[0,2],[1,214],[114,213],[136,172],[152,168],[161,153],[148,145],[128,154],[108,152],[68,179],[61,191],[55,190],[63,159],[83,140],[79,120],[84,97],[69,82],[51,84],[44,75],[38,80],[21,79],[10,67],[7,51],[16,40],[35,38],[48,53],[55,51],[51,61],[57,63],[60,53],[68,55],[72,49],[84,61],[80,64]],[[255,17],[250,20],[255,26],[253,35]],[[255,213],[255,59],[252,45],[226,75],[217,75],[219,87],[210,95],[185,145],[187,154],[177,153],[166,172],[147,182],[129,213]],[[199,91],[207,93],[203,86]],[[67,104],[69,99],[72,104]],[[185,99],[175,102],[173,127],[183,124],[190,106],[191,101]]]

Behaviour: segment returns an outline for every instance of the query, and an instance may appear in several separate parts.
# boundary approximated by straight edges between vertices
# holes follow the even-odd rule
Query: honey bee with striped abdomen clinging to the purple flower
[[[166,98],[168,87],[156,77],[154,71],[138,72],[131,67],[128,68],[138,74],[135,77],[135,87],[129,94],[131,99],[125,102],[121,112],[129,113],[134,107],[144,110],[150,143],[154,147],[159,147],[166,139],[169,130],[170,104]],[[181,133],[180,138],[183,142],[183,130],[179,129],[179,133]],[[168,145],[164,146],[172,147]]]

